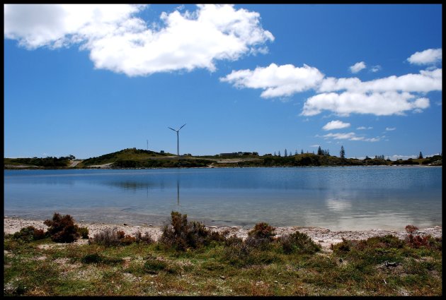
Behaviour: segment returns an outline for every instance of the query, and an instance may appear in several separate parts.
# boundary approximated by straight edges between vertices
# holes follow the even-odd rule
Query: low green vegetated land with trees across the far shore
[[[286,150],[286,149],[285,149]],[[287,151],[285,151],[287,153]],[[5,169],[17,164],[35,165],[46,168],[67,167],[69,157],[46,157],[46,158],[5,158]],[[339,156],[330,155],[328,150],[319,147],[318,154],[304,153],[303,150],[295,155],[266,154],[259,156],[257,152],[234,152],[224,153],[223,156],[200,156],[192,155],[176,156],[171,153],[154,152],[129,148],[118,152],[90,157],[76,165],[76,168],[90,168],[98,165],[108,164],[110,168],[179,168],[179,167],[316,167],[316,166],[370,166],[370,165],[442,165],[442,155],[424,157],[420,153],[418,158],[408,160],[391,161],[384,159],[384,155],[375,155],[374,158],[366,156],[363,160],[356,158],[345,158],[345,149],[341,146]]]

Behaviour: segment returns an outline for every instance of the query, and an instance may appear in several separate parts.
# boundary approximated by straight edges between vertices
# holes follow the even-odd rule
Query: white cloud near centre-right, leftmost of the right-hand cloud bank
[[[261,97],[290,96],[296,92],[303,92],[316,86],[324,78],[317,68],[304,64],[302,68],[292,64],[278,66],[270,64],[265,68],[255,70],[232,71],[222,82],[232,83],[236,88],[261,88]]]

